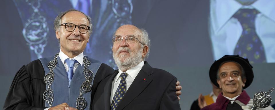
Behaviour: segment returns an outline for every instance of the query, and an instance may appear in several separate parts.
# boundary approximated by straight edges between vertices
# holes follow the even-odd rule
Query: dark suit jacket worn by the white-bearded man
[[[118,70],[100,82],[93,100],[94,110],[110,110],[112,81],[117,73]],[[145,61],[116,110],[178,110],[176,81],[169,72],[152,68]]]

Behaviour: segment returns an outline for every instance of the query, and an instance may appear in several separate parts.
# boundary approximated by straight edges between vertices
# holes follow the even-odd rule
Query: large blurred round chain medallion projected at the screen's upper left
[[[42,58],[42,53],[47,45],[49,26],[46,17],[40,13],[42,0],[25,0],[30,7],[29,11],[33,11],[31,17],[25,22],[22,34],[30,46],[30,50],[34,50],[37,58]]]

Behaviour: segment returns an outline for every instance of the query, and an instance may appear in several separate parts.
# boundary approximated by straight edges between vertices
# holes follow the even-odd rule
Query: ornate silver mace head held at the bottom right
[[[272,101],[270,96],[270,93],[272,93],[272,91],[274,91],[274,87],[272,87],[268,92],[259,91],[255,93],[251,110],[268,107]]]

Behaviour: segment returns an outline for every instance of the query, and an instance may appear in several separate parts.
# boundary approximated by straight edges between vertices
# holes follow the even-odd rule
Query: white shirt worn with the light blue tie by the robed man
[[[59,51],[59,55],[58,56],[61,59],[61,61],[63,62],[63,65],[64,65],[64,67],[66,69],[66,72],[68,72],[69,66],[67,65],[67,63],[65,62],[65,60],[68,59],[69,57],[66,54],[64,54],[61,50]],[[79,64],[82,66],[82,64],[83,64],[83,57],[84,57],[84,55],[83,55],[83,52],[82,52],[79,55],[75,56],[74,58],[69,58],[70,60],[74,59],[74,60],[78,61],[78,63],[74,64],[74,71],[75,71],[75,69],[77,68],[77,66]],[[48,107],[48,108],[46,108],[44,110],[48,110],[48,109],[50,109],[50,107]]]

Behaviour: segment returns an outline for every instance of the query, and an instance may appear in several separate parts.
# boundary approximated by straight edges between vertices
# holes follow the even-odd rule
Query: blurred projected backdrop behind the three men
[[[147,60],[178,78],[183,110],[199,94],[211,93],[209,68],[224,55],[239,54],[254,67],[245,89],[250,98],[275,87],[274,0],[3,0],[0,8],[0,108],[21,66],[59,52],[54,19],[68,9],[92,18],[84,55],[114,69],[114,31],[124,24],[145,28],[151,39]]]

